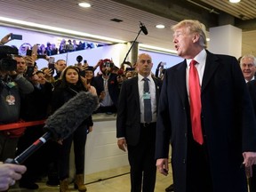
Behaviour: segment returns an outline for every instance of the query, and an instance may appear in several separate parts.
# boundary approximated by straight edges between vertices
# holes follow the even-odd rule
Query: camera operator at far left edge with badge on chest
[[[17,49],[0,46],[0,124],[18,123],[20,94],[27,94],[34,90],[33,85],[16,72],[17,61],[12,59],[14,54],[18,54]],[[0,130],[0,161],[15,156],[17,143],[23,132],[22,128]]]

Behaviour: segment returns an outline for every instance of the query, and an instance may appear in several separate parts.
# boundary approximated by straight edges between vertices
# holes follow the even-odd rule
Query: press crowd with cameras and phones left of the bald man
[[[10,41],[9,37],[10,35],[4,36],[1,42],[6,44]],[[81,63],[82,60],[78,60],[79,62],[77,61],[73,66],[67,66],[66,60],[57,60],[54,68],[47,66],[38,68],[35,55],[20,56],[18,50],[13,47],[0,46],[0,48],[2,48],[0,50],[2,98],[0,103],[1,111],[6,112],[0,113],[1,124],[35,123],[45,120],[68,100],[75,97],[78,92],[98,94],[100,107],[94,113],[116,113],[120,86],[128,76],[126,77],[126,70],[117,68],[112,60],[99,60],[95,66]],[[8,65],[12,63],[14,63],[13,67],[8,68]],[[96,68],[100,68],[100,73],[94,76]],[[53,73],[54,71],[55,73]],[[129,73],[129,78],[134,76],[134,68]],[[89,116],[67,139],[60,140],[59,143],[52,140],[48,141],[22,163],[27,168],[27,172],[20,172],[25,172],[22,178],[20,179],[19,176],[19,178],[15,177],[12,180],[20,179],[20,188],[36,189],[39,188],[36,180],[48,176],[47,185],[60,185],[61,192],[68,191],[70,182],[68,180],[69,154],[71,144],[74,143],[76,165],[74,187],[79,191],[86,191],[84,185],[84,148],[87,134],[92,132],[92,127],[92,116]],[[0,161],[4,162],[6,159],[19,156],[44,134],[43,128],[44,122],[1,131]],[[14,166],[10,165],[5,168],[9,167]],[[13,184],[13,182],[9,182],[9,186]],[[6,185],[3,188],[6,188]]]

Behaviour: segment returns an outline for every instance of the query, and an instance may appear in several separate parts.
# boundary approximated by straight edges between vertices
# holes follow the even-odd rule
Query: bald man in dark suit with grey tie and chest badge
[[[161,82],[151,76],[153,63],[148,54],[140,54],[137,65],[138,76],[125,80],[119,95],[117,145],[128,150],[131,191],[140,192],[142,184],[143,192],[153,192],[156,183],[156,108]],[[148,92],[144,90],[145,81],[148,81]],[[146,100],[150,100],[150,107]],[[151,110],[150,119],[144,116],[148,114],[144,109]]]

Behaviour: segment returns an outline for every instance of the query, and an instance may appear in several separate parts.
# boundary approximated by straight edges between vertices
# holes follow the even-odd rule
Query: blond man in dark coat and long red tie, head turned
[[[239,64],[235,57],[205,50],[205,27],[199,21],[183,20],[172,29],[175,48],[185,60],[164,75],[156,125],[157,169],[167,174],[171,138],[175,192],[247,192],[244,166],[256,163],[256,121]],[[191,60],[196,61],[190,65]],[[200,87],[190,86],[189,76]],[[191,97],[196,86],[197,100]],[[192,108],[195,102],[199,107]]]

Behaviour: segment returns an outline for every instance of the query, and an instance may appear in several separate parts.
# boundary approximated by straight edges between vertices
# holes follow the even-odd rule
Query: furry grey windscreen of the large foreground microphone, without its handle
[[[99,100],[91,92],[79,92],[49,116],[44,131],[52,133],[52,140],[64,140],[99,107]]]

